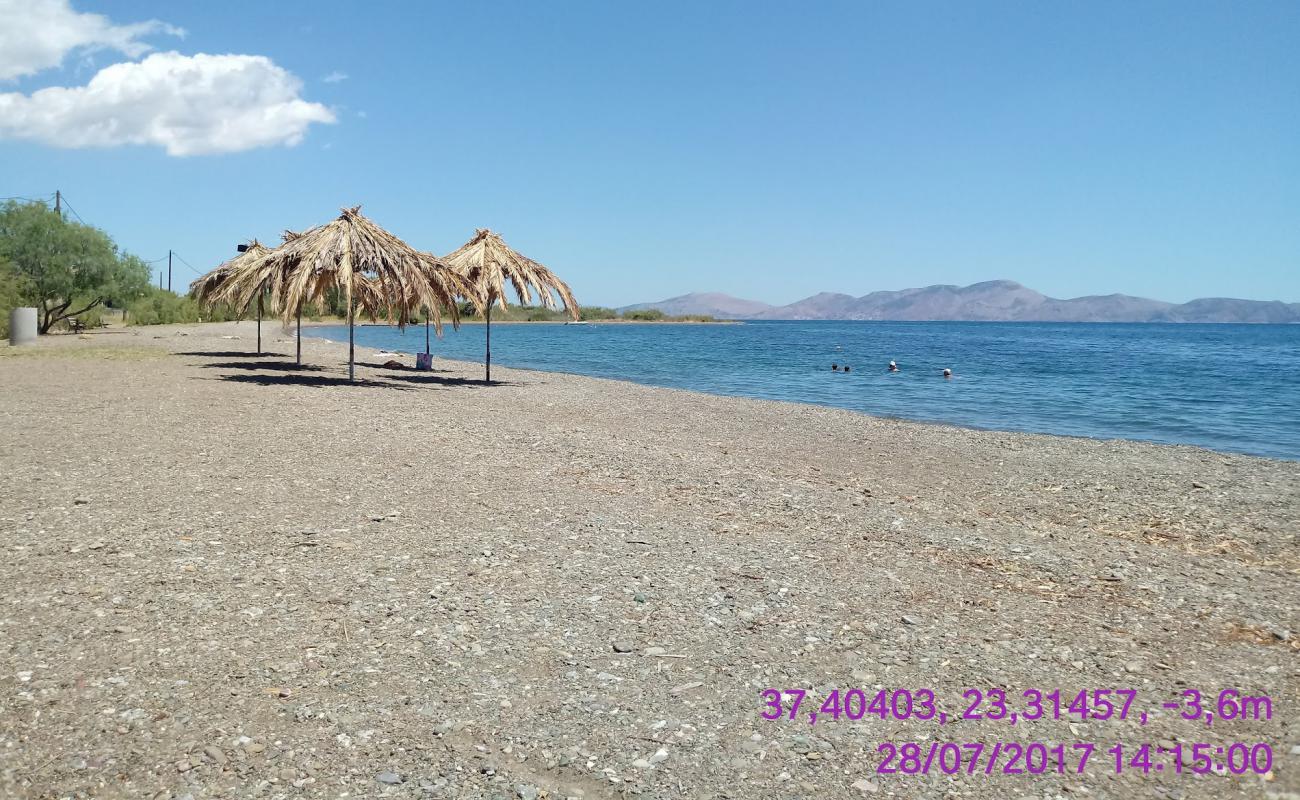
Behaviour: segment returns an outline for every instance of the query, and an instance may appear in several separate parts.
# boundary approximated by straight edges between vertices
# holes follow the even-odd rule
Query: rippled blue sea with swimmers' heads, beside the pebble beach
[[[346,327],[313,333],[347,341]],[[493,362],[510,367],[1300,459],[1300,325],[523,324],[493,325],[491,341]],[[360,327],[358,343],[422,353],[424,327]],[[436,356],[481,362],[482,351],[482,325],[433,340]],[[885,371],[890,359],[901,372]]]

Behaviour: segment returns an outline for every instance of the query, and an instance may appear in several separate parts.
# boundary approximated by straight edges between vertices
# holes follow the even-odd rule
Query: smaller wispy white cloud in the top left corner
[[[157,20],[113,25],[108,17],[74,12],[69,0],[0,0],[0,81],[58,66],[74,49],[116,49],[135,59],[153,49],[140,42],[148,34],[185,31]]]

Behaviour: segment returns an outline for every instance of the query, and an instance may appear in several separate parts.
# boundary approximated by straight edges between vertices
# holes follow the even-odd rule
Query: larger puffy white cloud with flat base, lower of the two
[[[8,3],[8,0],[0,0]],[[265,56],[153,53],[78,87],[0,94],[0,138],[57,147],[156,144],[173,156],[298,144],[334,112]]]

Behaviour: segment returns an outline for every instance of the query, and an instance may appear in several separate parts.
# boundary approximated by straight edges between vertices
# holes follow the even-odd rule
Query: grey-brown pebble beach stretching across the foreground
[[[346,343],[304,336],[299,372],[278,320],[278,355],[251,356],[252,329],[0,356],[0,671],[27,675],[6,679],[21,743],[0,749],[0,793],[367,793],[389,770],[412,791],[585,797],[949,786],[876,775],[879,722],[763,721],[764,686],[931,687],[949,705],[965,686],[1240,686],[1288,719],[1292,462],[506,367],[484,386],[442,358],[361,366],[354,386]],[[103,708],[104,735],[84,725]],[[1186,736],[1167,717],[1069,722],[945,739]],[[1296,791],[1278,726],[1231,736],[1271,743],[1270,788]],[[79,758],[130,762],[130,783]],[[1210,780],[1258,796],[1256,777]],[[989,799],[1065,784],[1158,780],[958,782]]]

